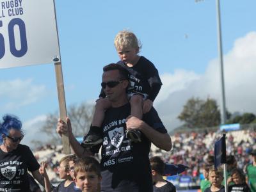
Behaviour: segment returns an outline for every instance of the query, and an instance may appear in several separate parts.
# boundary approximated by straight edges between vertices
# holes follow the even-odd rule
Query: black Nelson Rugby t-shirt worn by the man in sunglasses
[[[133,143],[125,136],[125,119],[131,113],[129,103],[120,108],[109,108],[102,124],[101,150],[102,191],[153,191],[148,154],[151,142],[141,134],[141,142]],[[143,121],[156,131],[166,129],[152,108]]]

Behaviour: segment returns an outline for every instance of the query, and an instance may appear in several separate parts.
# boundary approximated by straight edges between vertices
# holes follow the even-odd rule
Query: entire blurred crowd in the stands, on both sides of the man
[[[227,132],[227,154],[234,156],[237,163],[237,168],[246,172],[246,166],[252,163],[250,154],[256,148],[256,132],[253,129],[242,131]],[[221,136],[220,132],[184,132],[171,135],[173,148],[170,152],[164,152],[159,148],[152,146],[150,157],[160,156],[164,163],[184,164],[189,168],[180,175],[191,177],[193,186],[200,186],[200,182],[204,180],[204,164],[212,161],[214,156],[214,142]],[[61,146],[60,146],[61,147]],[[63,154],[61,148],[47,145],[35,150],[38,161],[47,161],[49,164],[48,172],[51,173],[51,182],[60,182],[56,180],[58,176],[57,167]],[[49,154],[44,155],[44,151],[49,150]],[[53,157],[58,158],[53,158]],[[228,157],[227,156],[227,157]],[[55,161],[52,161],[55,159]],[[99,157],[97,157],[99,159]],[[229,163],[229,161],[228,161]],[[179,177],[176,180],[171,180],[177,188],[179,188]]]

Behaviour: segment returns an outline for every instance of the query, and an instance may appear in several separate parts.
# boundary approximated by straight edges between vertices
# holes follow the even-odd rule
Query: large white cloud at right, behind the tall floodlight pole
[[[256,113],[256,32],[238,38],[232,50],[224,55],[226,105],[228,111]],[[168,129],[180,124],[177,116],[191,97],[211,97],[221,101],[220,64],[209,62],[205,74],[175,71],[161,76],[163,87],[156,99],[156,108]]]

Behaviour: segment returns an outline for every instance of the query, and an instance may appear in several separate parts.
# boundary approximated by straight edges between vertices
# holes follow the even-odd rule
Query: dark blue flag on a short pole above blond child
[[[226,163],[226,134],[214,143],[214,167],[218,168],[222,163]]]

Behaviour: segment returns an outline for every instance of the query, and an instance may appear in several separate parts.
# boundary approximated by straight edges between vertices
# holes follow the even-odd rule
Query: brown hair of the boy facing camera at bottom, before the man
[[[83,157],[81,159],[77,159],[74,170],[75,177],[78,172],[95,172],[99,177],[101,177],[99,161],[94,157]]]

